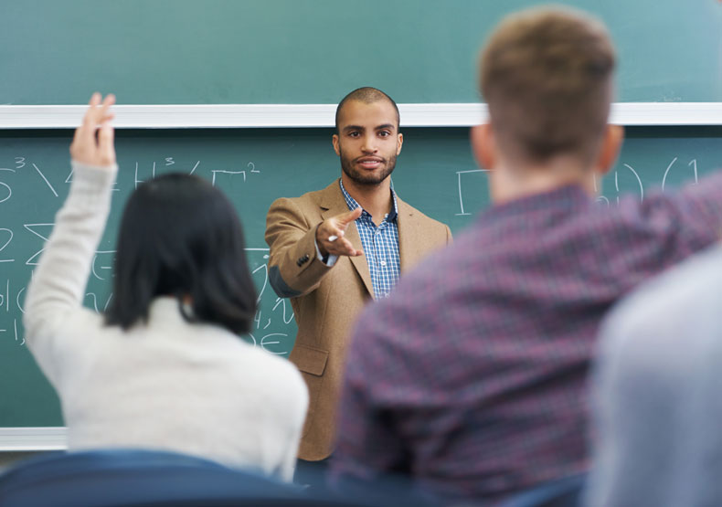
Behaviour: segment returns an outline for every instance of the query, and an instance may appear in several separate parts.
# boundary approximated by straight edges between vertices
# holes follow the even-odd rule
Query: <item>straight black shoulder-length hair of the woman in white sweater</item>
[[[155,297],[174,296],[188,322],[248,332],[256,293],[244,248],[234,207],[206,180],[143,183],[123,212],[106,323],[128,329],[147,320]]]

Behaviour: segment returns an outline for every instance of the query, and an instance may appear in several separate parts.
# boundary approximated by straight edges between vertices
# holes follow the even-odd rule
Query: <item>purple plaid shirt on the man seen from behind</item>
[[[613,208],[577,186],[490,208],[361,314],[332,481],[401,470],[486,502],[586,470],[602,316],[721,233],[722,174]]]

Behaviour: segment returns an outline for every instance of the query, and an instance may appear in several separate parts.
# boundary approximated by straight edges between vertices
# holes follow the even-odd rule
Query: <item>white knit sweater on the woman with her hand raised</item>
[[[58,391],[69,449],[167,449],[292,479],[308,394],[291,363],[156,299],[123,332],[81,306],[117,167],[73,163],[27,291],[26,341]]]

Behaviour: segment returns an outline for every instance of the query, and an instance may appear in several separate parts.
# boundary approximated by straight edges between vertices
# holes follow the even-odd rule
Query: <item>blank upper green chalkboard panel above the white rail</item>
[[[0,104],[475,102],[484,37],[520,0],[5,2]],[[619,48],[620,101],[722,101],[717,0],[576,0]]]

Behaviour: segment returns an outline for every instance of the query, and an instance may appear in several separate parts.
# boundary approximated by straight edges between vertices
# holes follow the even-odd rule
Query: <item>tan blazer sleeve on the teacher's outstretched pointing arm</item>
[[[277,199],[266,217],[269,282],[281,298],[295,298],[315,290],[332,269],[316,255],[316,227],[293,199]]]

